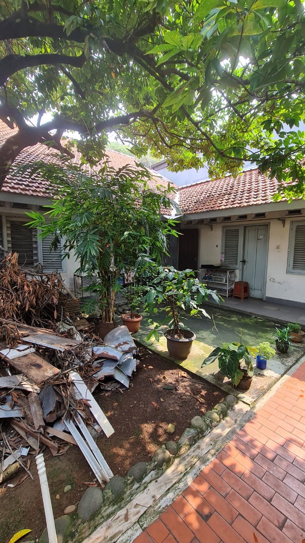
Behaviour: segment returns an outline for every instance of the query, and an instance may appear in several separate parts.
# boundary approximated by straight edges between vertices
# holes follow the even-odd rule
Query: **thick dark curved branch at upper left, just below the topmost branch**
[[[86,56],[69,56],[60,54],[40,54],[40,55],[7,55],[0,60],[0,86],[14,73],[24,68],[40,65],[69,64],[76,68],[81,68],[86,62]]]

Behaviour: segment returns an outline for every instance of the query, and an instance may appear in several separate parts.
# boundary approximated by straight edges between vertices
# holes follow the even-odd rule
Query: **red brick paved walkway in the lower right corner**
[[[305,363],[136,543],[305,543]]]

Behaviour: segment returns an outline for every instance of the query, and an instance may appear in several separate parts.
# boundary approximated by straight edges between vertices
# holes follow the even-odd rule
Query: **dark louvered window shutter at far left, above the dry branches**
[[[36,231],[22,222],[7,222],[8,250],[17,252],[18,264],[31,268],[38,262]]]

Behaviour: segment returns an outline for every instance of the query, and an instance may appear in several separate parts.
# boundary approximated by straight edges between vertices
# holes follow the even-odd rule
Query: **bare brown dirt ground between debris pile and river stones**
[[[100,437],[97,442],[114,475],[125,476],[135,463],[150,460],[166,440],[177,441],[194,415],[203,415],[224,397],[221,390],[165,358],[142,347],[140,354],[133,386],[122,394],[94,394],[115,430],[110,438]],[[176,426],[172,435],[166,433],[170,422]],[[49,450],[44,456],[56,518],[67,506],[77,504],[87,488],[85,483],[95,479],[76,446],[62,456],[53,457]],[[29,457],[34,481],[28,477],[15,488],[8,487],[7,483],[15,484],[23,477],[21,469],[0,485],[0,543],[8,543],[24,528],[32,530],[25,539],[37,539],[46,526],[35,456]],[[66,485],[72,489],[64,494]]]

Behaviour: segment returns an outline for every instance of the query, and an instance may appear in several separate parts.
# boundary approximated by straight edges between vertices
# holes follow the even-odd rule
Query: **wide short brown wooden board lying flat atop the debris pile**
[[[32,352],[30,355],[22,356],[20,358],[14,358],[9,361],[9,364],[16,371],[27,376],[34,383],[44,383],[50,377],[59,374],[60,370],[44,359],[36,352]]]

